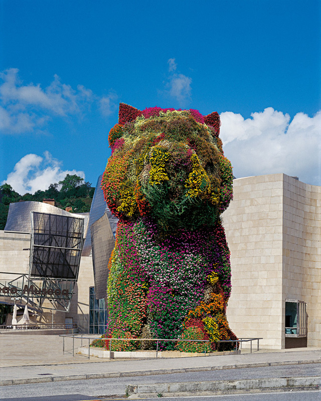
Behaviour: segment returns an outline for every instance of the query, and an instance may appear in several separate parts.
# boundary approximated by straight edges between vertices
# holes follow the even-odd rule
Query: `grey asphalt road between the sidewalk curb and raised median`
[[[115,377],[104,379],[89,379],[89,380],[69,380],[57,381],[49,383],[35,384],[20,384],[12,386],[0,387],[0,399],[2,401],[78,401],[84,399],[95,399],[95,396],[110,396],[113,394],[125,394],[126,385],[128,384],[152,384],[152,383],[178,383],[178,382],[193,382],[193,381],[215,381],[215,380],[240,380],[254,379],[264,377],[304,377],[317,376],[321,373],[321,363],[300,364],[300,365],[283,365],[283,366],[267,366],[257,368],[244,369],[227,369],[227,370],[212,370],[189,373],[171,373],[159,374],[150,376],[134,376],[134,377]],[[305,392],[304,392],[305,394]],[[306,393],[310,397],[309,393]],[[266,394],[264,394],[265,396]],[[293,393],[294,395],[294,393]],[[303,395],[303,393],[301,394]],[[247,394],[250,396],[250,394]],[[252,395],[251,395],[252,396]],[[278,397],[282,394],[278,394]],[[305,395],[304,395],[305,396]],[[314,396],[319,396],[315,393]],[[233,396],[225,396],[222,400],[233,401]],[[204,397],[203,397],[204,398]],[[168,398],[164,398],[168,399]],[[174,399],[174,398],[171,398]],[[178,398],[176,398],[177,400]],[[184,398],[180,398],[183,400]],[[192,398],[187,398],[191,401]],[[201,398],[195,398],[198,401]],[[208,397],[204,399],[208,400]],[[215,397],[215,400],[220,398]],[[238,401],[249,400],[252,398],[235,398]],[[261,398],[257,398],[258,400]],[[262,398],[265,400],[285,400],[294,401],[295,398]],[[297,398],[300,401],[306,399],[316,400],[317,398]],[[253,398],[256,401],[256,398]]]

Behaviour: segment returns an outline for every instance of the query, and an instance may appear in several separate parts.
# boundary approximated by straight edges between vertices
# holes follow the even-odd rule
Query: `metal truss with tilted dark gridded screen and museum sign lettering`
[[[84,218],[31,211],[29,274],[0,272],[0,302],[68,312],[83,242]]]

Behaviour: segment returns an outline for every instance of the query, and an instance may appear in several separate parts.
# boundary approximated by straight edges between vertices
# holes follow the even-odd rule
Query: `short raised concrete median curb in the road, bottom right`
[[[284,377],[260,378],[246,380],[217,380],[183,383],[138,384],[128,385],[126,393],[129,398],[152,397],[162,394],[163,397],[198,394],[217,391],[242,391],[253,389],[280,389],[280,388],[319,388],[321,376],[311,377]],[[158,395],[159,396],[159,395]]]

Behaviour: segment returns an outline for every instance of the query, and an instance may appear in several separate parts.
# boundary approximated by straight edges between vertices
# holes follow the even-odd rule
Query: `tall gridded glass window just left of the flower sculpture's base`
[[[104,299],[96,299],[95,287],[89,287],[89,333],[104,334],[107,328],[107,310]]]

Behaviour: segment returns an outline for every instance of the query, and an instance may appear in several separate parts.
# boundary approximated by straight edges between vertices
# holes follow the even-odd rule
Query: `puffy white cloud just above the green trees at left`
[[[7,182],[23,195],[26,192],[35,193],[38,189],[46,190],[50,184],[63,180],[67,174],[85,178],[83,171],[63,170],[62,162],[53,158],[48,151],[44,157],[30,153],[18,161],[2,184]]]

